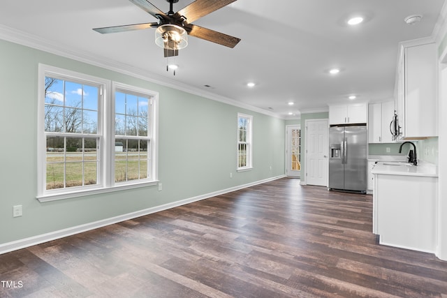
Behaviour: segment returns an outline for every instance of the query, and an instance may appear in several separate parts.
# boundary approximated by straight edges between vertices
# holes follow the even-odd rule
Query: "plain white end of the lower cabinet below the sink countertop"
[[[434,253],[437,177],[374,174],[373,232],[380,244]]]

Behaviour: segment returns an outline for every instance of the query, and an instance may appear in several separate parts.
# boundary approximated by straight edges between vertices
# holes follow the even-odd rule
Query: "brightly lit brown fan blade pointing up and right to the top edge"
[[[223,8],[223,6],[227,6],[234,1],[236,0],[196,0],[177,11],[175,15],[177,15],[177,17],[186,17],[186,22],[191,24],[195,20],[200,19],[200,17],[212,13],[219,8]]]

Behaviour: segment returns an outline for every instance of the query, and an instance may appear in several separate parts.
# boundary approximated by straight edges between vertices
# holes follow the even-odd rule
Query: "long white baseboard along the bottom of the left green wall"
[[[261,181],[255,181],[255,182],[251,182],[249,184],[243,184],[243,185],[240,185],[240,186],[234,186],[234,187],[231,187],[231,188],[223,189],[221,191],[214,191],[212,193],[206,193],[205,195],[198,195],[198,196],[193,197],[193,198],[179,200],[179,201],[168,203],[168,204],[162,204],[162,205],[159,205],[159,206],[156,206],[156,207],[142,209],[142,210],[139,210],[139,211],[131,212],[131,213],[128,213],[128,214],[123,214],[123,215],[120,215],[120,216],[115,216],[115,217],[112,217],[112,218],[105,218],[105,219],[102,219],[101,221],[94,221],[92,223],[85,223],[83,225],[76,225],[74,227],[66,228],[66,229],[63,229],[63,230],[57,230],[57,231],[54,231],[54,232],[49,232],[49,233],[45,233],[45,234],[39,234],[39,235],[36,235],[36,236],[33,236],[33,237],[28,237],[28,238],[24,238],[24,239],[20,239],[20,240],[16,240],[16,241],[7,242],[5,244],[0,244],[0,255],[2,253],[8,253],[10,251],[17,251],[19,249],[26,248],[26,247],[29,247],[29,246],[34,246],[34,245],[37,245],[37,244],[42,244],[42,243],[47,242],[47,241],[52,241],[52,240],[55,240],[55,239],[60,239],[60,238],[64,238],[64,237],[67,237],[67,236],[71,236],[73,234],[78,234],[78,233],[81,233],[81,232],[94,230],[94,229],[97,229],[97,228],[104,227],[105,225],[112,225],[114,223],[119,223],[119,222],[122,222],[122,221],[128,221],[129,219],[132,219],[132,218],[137,218],[137,217],[140,217],[140,216],[153,214],[153,213],[156,213],[156,212],[159,212],[159,211],[163,211],[163,210],[166,210],[166,209],[179,207],[179,206],[182,206],[184,204],[189,204],[189,203],[192,203],[192,202],[205,200],[207,198],[213,198],[213,197],[215,197],[217,195],[223,195],[224,193],[230,193],[232,191],[237,191],[237,190],[240,190],[242,188],[247,188],[247,187],[255,186],[255,185],[258,185],[258,184],[263,184],[263,183],[269,182],[269,181],[274,181],[274,180],[277,180],[277,179],[280,179],[280,178],[283,178],[283,177],[285,177],[285,175],[272,177],[272,178],[268,178],[268,179],[263,179]]]

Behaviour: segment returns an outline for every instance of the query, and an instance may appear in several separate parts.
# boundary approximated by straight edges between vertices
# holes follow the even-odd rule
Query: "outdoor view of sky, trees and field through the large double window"
[[[45,77],[47,190],[100,183],[99,94],[95,84]],[[115,151],[115,182],[147,178],[150,98],[115,92],[115,136],[124,136],[108,148]]]

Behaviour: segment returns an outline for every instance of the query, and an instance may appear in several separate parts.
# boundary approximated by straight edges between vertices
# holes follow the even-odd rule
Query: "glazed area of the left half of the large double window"
[[[45,77],[46,189],[97,183],[98,87]]]

